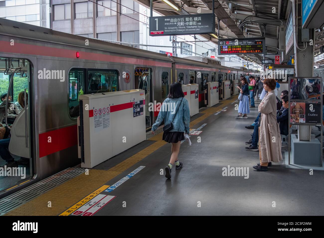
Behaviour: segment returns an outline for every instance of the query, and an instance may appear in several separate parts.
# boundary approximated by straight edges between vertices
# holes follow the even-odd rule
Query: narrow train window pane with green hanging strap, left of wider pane
[[[71,118],[79,116],[79,96],[84,93],[84,70],[71,69],[69,72],[69,112]]]

